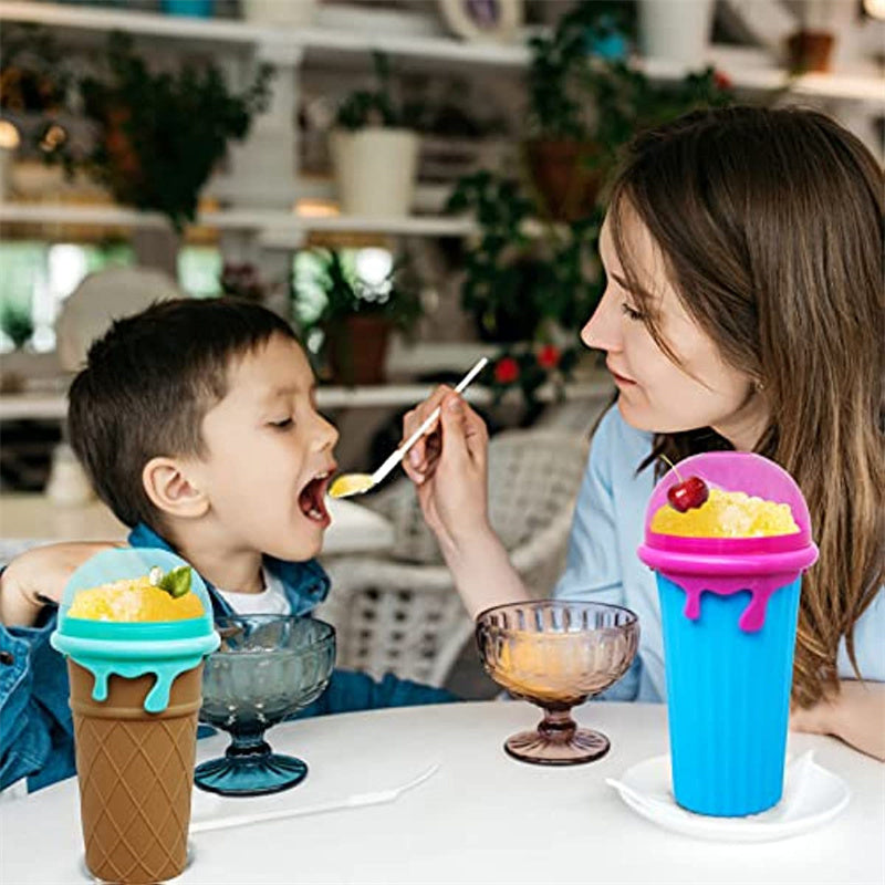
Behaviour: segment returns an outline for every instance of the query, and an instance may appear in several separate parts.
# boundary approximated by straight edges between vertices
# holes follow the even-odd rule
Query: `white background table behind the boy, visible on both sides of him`
[[[323,555],[378,553],[391,548],[394,528],[388,520],[353,501],[326,499],[332,524]],[[18,552],[17,540],[122,541],[128,529],[97,499],[76,507],[54,504],[44,494],[0,494],[0,561],[4,550]]]

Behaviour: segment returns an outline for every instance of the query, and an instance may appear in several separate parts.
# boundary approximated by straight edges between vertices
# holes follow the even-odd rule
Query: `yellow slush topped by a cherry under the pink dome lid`
[[[664,504],[652,518],[652,531],[683,538],[767,538],[795,534],[799,527],[789,504],[710,489],[705,503],[684,513]]]

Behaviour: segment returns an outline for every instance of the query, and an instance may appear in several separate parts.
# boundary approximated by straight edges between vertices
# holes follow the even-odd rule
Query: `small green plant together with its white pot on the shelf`
[[[343,102],[330,148],[344,215],[402,218],[409,214],[418,163],[418,136],[394,96],[387,56],[374,54],[377,86]]]

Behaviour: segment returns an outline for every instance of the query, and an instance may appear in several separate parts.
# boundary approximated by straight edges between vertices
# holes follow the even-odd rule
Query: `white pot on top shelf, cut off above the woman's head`
[[[707,55],[714,7],[714,0],[639,0],[643,55],[699,67]]]

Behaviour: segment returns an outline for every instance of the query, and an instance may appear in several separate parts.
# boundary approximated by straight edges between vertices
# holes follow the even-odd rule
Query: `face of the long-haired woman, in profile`
[[[654,299],[642,305],[625,288],[606,219],[600,256],[607,283],[581,337],[589,347],[605,351],[624,420],[659,434],[714,427],[736,448],[752,448],[767,417],[752,379],[727,365],[712,339],[688,315],[667,280],[660,250],[635,212],[627,208],[622,218],[634,271]],[[655,312],[678,364],[653,339],[645,310]]]

